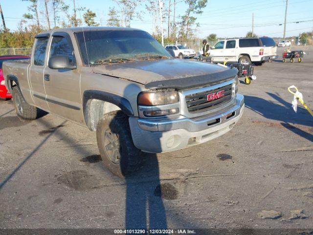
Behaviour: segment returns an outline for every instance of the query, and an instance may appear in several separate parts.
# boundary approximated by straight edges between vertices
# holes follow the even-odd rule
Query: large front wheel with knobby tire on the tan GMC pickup
[[[102,163],[119,177],[130,175],[142,164],[142,152],[134,146],[128,117],[121,111],[98,121],[97,143]]]

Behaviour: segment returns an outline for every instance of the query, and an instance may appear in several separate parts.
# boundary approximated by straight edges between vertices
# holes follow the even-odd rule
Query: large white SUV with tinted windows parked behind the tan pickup
[[[214,63],[253,62],[258,65],[276,59],[276,51],[276,44],[269,37],[221,40],[209,50],[211,61]]]

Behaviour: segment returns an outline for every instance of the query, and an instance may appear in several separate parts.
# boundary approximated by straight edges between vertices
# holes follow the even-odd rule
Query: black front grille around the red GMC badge
[[[218,94],[218,92],[224,91],[224,96],[215,97],[213,100],[208,101],[209,94]],[[195,93],[186,95],[186,103],[189,113],[203,112],[213,108],[216,108],[219,105],[227,103],[231,100],[232,97],[232,84],[228,84],[224,87],[218,89],[205,91],[201,93]]]

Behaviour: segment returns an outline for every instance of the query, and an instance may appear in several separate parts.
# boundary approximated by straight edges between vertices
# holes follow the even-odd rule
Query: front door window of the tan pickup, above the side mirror
[[[50,57],[55,55],[67,55],[71,62],[73,59],[73,51],[71,48],[65,37],[54,36],[51,42]]]

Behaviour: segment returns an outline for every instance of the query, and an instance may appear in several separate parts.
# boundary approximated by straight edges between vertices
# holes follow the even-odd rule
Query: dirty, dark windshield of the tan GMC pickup
[[[171,58],[149,33],[140,30],[85,31],[76,36],[85,65]]]

